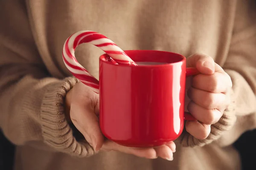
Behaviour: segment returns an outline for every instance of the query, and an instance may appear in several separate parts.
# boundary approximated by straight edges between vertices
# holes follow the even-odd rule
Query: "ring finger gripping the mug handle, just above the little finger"
[[[203,122],[206,125],[212,125],[218,122],[223,113],[223,111],[219,111],[218,109],[203,108],[193,101],[189,102],[187,108],[189,113],[191,113],[195,119]]]

